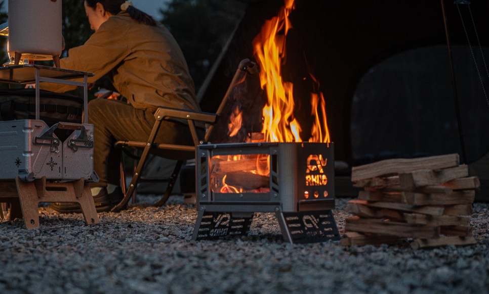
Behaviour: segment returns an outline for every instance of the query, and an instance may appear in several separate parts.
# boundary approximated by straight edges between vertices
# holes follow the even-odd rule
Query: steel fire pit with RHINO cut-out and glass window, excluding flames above
[[[193,239],[247,234],[255,212],[273,212],[291,243],[339,240],[333,143],[202,144]]]

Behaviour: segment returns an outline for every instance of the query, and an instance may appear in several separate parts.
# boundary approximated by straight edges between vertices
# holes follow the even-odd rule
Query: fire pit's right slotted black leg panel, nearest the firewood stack
[[[275,216],[282,230],[283,239],[290,243],[340,240],[341,236],[331,210],[306,212],[276,211]]]

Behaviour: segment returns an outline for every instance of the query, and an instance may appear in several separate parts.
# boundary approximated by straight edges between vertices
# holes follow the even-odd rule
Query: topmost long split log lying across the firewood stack
[[[459,164],[460,159],[458,154],[413,159],[388,159],[353,167],[351,171],[351,180],[356,182],[374,177],[409,173],[422,169],[445,169],[459,166]]]

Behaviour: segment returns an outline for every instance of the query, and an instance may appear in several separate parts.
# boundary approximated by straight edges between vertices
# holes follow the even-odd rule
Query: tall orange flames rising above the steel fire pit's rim
[[[281,73],[281,66],[286,60],[286,36],[292,28],[289,15],[294,8],[294,0],[285,0],[278,15],[267,20],[253,40],[255,57],[260,65],[261,87],[268,97],[263,108],[262,132],[265,141],[269,142],[302,142],[302,129],[294,118],[293,84],[283,81]],[[329,142],[324,97],[322,93],[313,93],[311,100],[315,121],[309,141]],[[322,107],[319,111],[318,106]]]

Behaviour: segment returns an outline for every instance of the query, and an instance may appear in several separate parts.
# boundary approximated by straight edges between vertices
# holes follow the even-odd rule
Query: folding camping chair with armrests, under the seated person
[[[141,178],[141,173],[146,165],[149,154],[153,154],[155,156],[161,156],[164,158],[168,158],[168,152],[171,151],[171,159],[177,159],[177,163],[172,175],[167,179],[159,179],[160,181],[168,182],[167,189],[163,195],[163,197],[154,204],[154,206],[162,206],[166,203],[168,198],[170,197],[174,183],[177,179],[177,176],[180,172],[180,169],[185,160],[195,158],[196,146],[198,144],[202,144],[204,142],[212,141],[213,143],[218,143],[218,138],[220,134],[224,132],[227,133],[227,117],[224,119],[220,119],[223,117],[234,104],[233,92],[236,85],[242,84],[242,82],[246,79],[248,74],[256,74],[258,72],[258,67],[256,63],[245,59],[239,63],[238,69],[231,81],[229,88],[224,95],[224,99],[222,100],[219,109],[216,113],[206,113],[206,112],[198,112],[198,111],[189,111],[189,110],[180,110],[180,109],[172,109],[166,107],[159,107],[154,113],[154,117],[156,122],[153,125],[151,133],[149,134],[147,141],[117,141],[115,142],[116,148],[135,148],[137,150],[142,150],[141,157],[139,158],[137,167],[135,169],[134,175],[131,179],[131,182],[126,189],[125,183],[125,173],[124,166],[121,164],[121,186],[123,186],[124,198],[121,200],[116,206],[114,206],[111,211],[118,212],[124,209],[129,200],[133,197],[134,191],[138,182]],[[190,134],[192,135],[193,145],[182,145],[182,144],[164,144],[155,142],[156,134],[158,133],[161,122],[170,118],[179,118],[185,119],[188,123]],[[196,123],[205,123],[208,127],[207,132],[203,138],[199,138],[199,132],[197,131]],[[202,133],[202,132],[200,132]],[[216,135],[216,133],[218,135]],[[163,154],[165,153],[165,154]],[[131,155],[131,153],[127,154]]]

